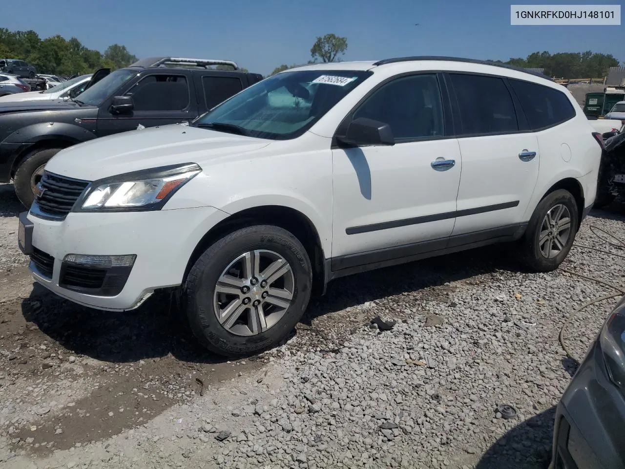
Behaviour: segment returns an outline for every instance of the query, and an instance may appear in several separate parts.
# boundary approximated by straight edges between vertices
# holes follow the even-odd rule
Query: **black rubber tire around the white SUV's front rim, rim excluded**
[[[293,295],[291,305],[273,326],[256,335],[241,336],[221,325],[213,299],[217,280],[227,266],[253,250],[273,251],[287,261],[293,274]],[[311,261],[299,240],[286,229],[256,225],[238,229],[204,251],[186,278],[182,304],[191,330],[204,347],[223,356],[247,356],[277,345],[291,333],[306,310],[311,286]],[[251,314],[251,309],[244,314]]]

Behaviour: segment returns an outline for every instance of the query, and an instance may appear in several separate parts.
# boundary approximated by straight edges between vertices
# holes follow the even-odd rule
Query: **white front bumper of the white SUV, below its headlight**
[[[70,213],[63,221],[28,213],[26,223],[32,223],[27,233],[32,246],[30,270],[38,283],[75,303],[100,310],[132,310],[154,290],[181,285],[197,244],[227,216],[213,207]],[[68,254],[136,255],[136,260],[126,271],[112,268],[100,273],[101,285],[89,290],[77,288],[76,280],[88,284],[93,281],[93,270],[72,271],[74,285],[69,285],[68,264],[63,262]]]

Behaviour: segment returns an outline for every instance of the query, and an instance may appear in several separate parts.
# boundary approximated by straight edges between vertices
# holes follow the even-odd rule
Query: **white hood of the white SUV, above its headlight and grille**
[[[123,132],[71,146],[46,165],[51,173],[95,181],[117,174],[169,164],[206,166],[231,159],[270,144],[259,138],[171,124]]]

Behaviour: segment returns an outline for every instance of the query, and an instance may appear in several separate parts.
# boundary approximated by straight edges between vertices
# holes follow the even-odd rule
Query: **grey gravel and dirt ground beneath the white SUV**
[[[132,313],[32,288],[0,186],[0,462],[6,468],[544,468],[552,419],[616,300],[524,273],[501,245],[344,278],[286,344],[224,362],[168,301]],[[625,250],[625,205],[579,245]],[[599,235],[604,236],[601,232]],[[574,247],[566,270],[625,285],[622,259]],[[381,330],[371,321],[379,316]],[[499,405],[516,409],[505,420]]]

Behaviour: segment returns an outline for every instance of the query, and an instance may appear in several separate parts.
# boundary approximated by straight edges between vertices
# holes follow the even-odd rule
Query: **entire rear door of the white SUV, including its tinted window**
[[[450,246],[512,235],[527,221],[538,178],[536,135],[506,79],[468,73],[449,73],[447,79],[456,98],[462,155]]]

